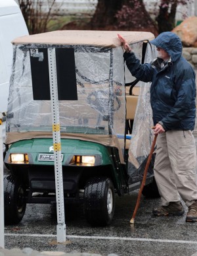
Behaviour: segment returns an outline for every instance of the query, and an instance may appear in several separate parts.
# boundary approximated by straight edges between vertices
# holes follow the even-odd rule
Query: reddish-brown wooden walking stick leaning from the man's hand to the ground
[[[144,188],[144,185],[145,185],[145,182],[146,182],[146,175],[147,175],[147,172],[148,172],[148,167],[150,165],[150,161],[151,161],[151,158],[152,158],[152,154],[154,152],[154,146],[156,144],[156,139],[157,139],[158,135],[154,135],[154,140],[152,142],[152,146],[151,146],[151,149],[150,149],[150,154],[148,156],[148,160],[146,162],[146,166],[145,166],[145,169],[144,169],[144,176],[143,176],[143,179],[142,179],[142,183],[141,183],[141,188],[139,190],[139,194],[138,194],[138,197],[137,197],[137,203],[135,205],[135,210],[133,212],[133,216],[130,220],[130,223],[131,224],[134,224],[134,219],[135,219],[135,215],[137,214],[137,210],[138,210],[138,207],[139,207],[139,203],[141,201],[141,195],[142,195],[142,190]]]

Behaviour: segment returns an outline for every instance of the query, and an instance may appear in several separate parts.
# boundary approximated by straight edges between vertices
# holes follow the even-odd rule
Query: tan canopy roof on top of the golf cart
[[[64,44],[90,45],[114,48],[121,46],[117,34],[121,34],[129,44],[154,39],[150,32],[137,31],[99,31],[99,30],[58,30],[31,36],[22,36],[12,44]]]

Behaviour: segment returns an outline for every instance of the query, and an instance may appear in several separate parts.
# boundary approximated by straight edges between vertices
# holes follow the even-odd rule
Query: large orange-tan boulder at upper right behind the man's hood
[[[176,26],[172,32],[177,34],[183,46],[197,46],[197,16],[191,16],[181,22],[179,26]]]

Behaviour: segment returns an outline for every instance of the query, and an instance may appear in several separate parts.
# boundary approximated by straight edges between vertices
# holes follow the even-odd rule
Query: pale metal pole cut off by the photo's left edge
[[[5,247],[4,237],[4,191],[3,191],[3,138],[2,124],[0,119],[0,247]]]

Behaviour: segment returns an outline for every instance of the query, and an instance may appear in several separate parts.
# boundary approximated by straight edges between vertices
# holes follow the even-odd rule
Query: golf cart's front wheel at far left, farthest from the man
[[[11,175],[4,176],[5,224],[18,224],[26,211],[25,190]]]

